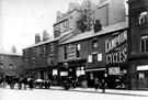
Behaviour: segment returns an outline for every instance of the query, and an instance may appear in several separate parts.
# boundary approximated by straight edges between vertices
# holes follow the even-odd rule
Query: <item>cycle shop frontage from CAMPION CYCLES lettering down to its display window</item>
[[[127,30],[113,33],[113,38],[105,40],[107,68],[107,88],[128,89]]]

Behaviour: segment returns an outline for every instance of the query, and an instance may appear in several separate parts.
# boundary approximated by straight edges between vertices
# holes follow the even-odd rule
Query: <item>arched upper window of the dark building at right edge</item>
[[[143,11],[139,14],[139,24],[147,24],[148,23],[148,12],[147,11]]]

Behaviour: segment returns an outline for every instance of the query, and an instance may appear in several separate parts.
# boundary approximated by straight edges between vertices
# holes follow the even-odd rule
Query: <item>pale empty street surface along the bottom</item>
[[[94,88],[75,88],[65,90],[61,87],[50,89],[19,90],[0,88],[0,100],[148,100],[148,91],[139,90],[111,90],[105,93]]]

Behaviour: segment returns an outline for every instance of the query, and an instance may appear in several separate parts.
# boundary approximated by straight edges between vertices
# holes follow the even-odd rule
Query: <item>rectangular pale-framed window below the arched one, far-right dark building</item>
[[[148,35],[140,38],[140,52],[148,53]]]

